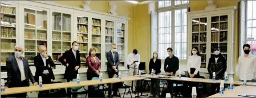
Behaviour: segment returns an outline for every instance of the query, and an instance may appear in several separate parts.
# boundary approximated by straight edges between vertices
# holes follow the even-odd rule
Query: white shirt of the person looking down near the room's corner
[[[139,68],[139,65],[140,65],[140,54],[133,54],[133,53],[130,53],[128,54],[127,56],[127,62],[128,62],[128,65],[130,66],[130,68],[134,68],[132,65],[133,61],[138,61],[138,62],[135,62],[136,63],[136,68]]]

